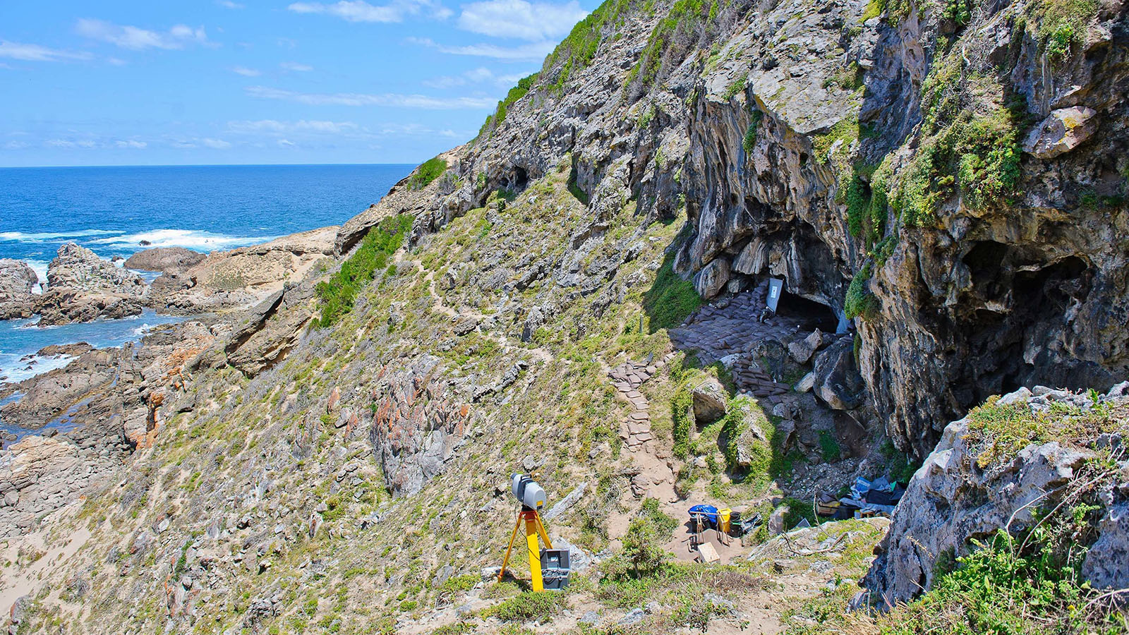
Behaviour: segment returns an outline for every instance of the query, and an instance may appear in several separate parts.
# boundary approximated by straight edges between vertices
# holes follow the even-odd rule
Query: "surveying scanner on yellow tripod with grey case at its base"
[[[502,576],[506,575],[509,555],[514,550],[517,531],[524,521],[533,590],[557,590],[568,586],[568,549],[553,549],[552,542],[549,541],[549,533],[545,532],[545,525],[541,522],[541,514],[537,513],[545,505],[544,488],[530,475],[514,475],[510,477],[510,492],[514,494],[514,498],[517,498],[522,504],[522,510],[517,513],[517,523],[514,524],[514,532],[509,537],[509,547],[506,548],[506,558],[501,563],[501,571],[498,572],[498,581],[501,582]],[[541,537],[541,540],[545,542],[544,549],[537,545],[537,537]]]

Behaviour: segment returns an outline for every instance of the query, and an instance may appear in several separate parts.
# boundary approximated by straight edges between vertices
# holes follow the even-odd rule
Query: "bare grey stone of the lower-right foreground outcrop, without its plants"
[[[1051,401],[1058,401],[1054,392],[1062,393],[1068,402],[1078,399],[1065,391],[1034,397],[1024,389],[1005,395],[1000,402],[1047,409]],[[1117,405],[1129,402],[1112,393],[1108,399]],[[910,480],[878,548],[881,554],[864,581],[876,603],[909,601],[922,589],[929,590],[940,554],[959,557],[974,548],[971,540],[988,540],[1001,528],[1018,531],[1032,527],[1039,510],[1052,508],[1066,490],[1064,486],[1080,479],[1086,462],[1099,456],[1088,447],[1052,441],[1027,445],[1006,463],[982,469],[977,464],[980,450],[970,443],[968,418],[953,421]],[[1129,460],[1122,455],[1120,462],[1123,480]],[[1120,589],[1129,582],[1123,494],[1129,482],[1108,487],[1097,496],[1104,504],[1101,534],[1083,571],[1095,588]]]

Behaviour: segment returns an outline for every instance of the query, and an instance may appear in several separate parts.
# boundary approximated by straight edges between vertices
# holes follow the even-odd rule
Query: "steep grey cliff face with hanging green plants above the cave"
[[[919,455],[992,393],[1108,388],[1129,367],[1126,6],[953,7],[671,27],[606,5],[452,153],[462,185],[420,228],[570,154],[594,232],[630,199],[684,209],[675,268],[707,298],[774,276],[852,319],[873,414]]]

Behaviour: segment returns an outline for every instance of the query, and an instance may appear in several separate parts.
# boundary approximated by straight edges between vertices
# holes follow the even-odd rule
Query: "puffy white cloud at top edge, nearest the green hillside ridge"
[[[554,40],[572,31],[588,15],[576,0],[564,5],[527,0],[483,0],[463,5],[458,28],[496,37],[531,42]]]

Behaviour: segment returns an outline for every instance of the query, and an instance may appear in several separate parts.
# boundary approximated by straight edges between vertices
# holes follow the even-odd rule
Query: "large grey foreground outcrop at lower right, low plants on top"
[[[1083,574],[1100,589],[1129,585],[1129,383],[1093,401],[1064,390],[1022,389],[984,408],[1024,408],[1048,415],[1036,429],[1057,434],[1057,419],[1095,417],[1060,440],[1030,443],[1000,458],[990,436],[973,432],[970,417],[945,427],[940,442],[913,475],[894,513],[890,532],[865,584],[872,601],[891,607],[931,588],[938,558],[960,557],[986,543],[1000,529],[1022,533],[1041,514],[1069,513],[1083,503],[1100,503],[1096,541]],[[1108,415],[1101,415],[1104,412]],[[1016,424],[1018,426],[1018,424]],[[1088,428],[1088,429],[1087,429]],[[1067,428],[1073,429],[1073,428]],[[1103,466],[1110,466],[1104,468]],[[1103,476],[1104,473],[1104,476]],[[1088,489],[1087,489],[1088,488]]]

